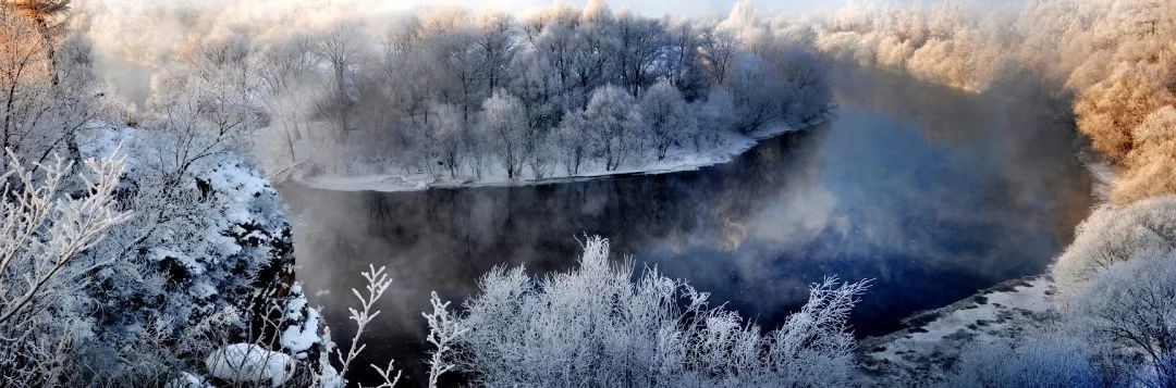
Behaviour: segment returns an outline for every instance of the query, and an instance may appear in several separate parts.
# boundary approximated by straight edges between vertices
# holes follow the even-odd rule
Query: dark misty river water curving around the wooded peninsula
[[[874,279],[853,315],[866,336],[1042,273],[1087,215],[1068,105],[1047,88],[965,94],[858,69],[833,79],[827,124],[699,171],[402,193],[283,186],[299,278],[343,342],[348,290],[368,264],[388,266],[395,284],[366,352],[413,374],[430,291],[460,304],[497,265],[568,270],[586,233],[766,327],[824,275]]]

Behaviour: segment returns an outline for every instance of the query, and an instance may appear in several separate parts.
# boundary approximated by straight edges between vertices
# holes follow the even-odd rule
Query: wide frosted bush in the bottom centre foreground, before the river
[[[849,313],[867,283],[826,279],[767,334],[708,294],[609,261],[593,237],[580,267],[532,279],[496,268],[454,314],[434,299],[434,373],[490,387],[764,387],[853,382]]]

